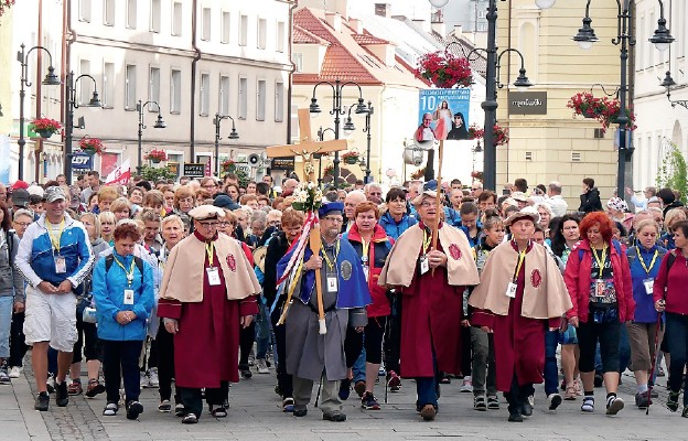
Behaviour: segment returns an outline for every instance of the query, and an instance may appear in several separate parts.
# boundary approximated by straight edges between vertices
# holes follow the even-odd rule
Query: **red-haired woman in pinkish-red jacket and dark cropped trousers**
[[[594,356],[598,342],[606,387],[606,415],[624,407],[619,387],[621,325],[633,320],[635,302],[628,260],[613,240],[613,224],[602,212],[588,214],[580,223],[581,241],[571,250],[563,280],[573,308],[569,324],[578,327],[579,367],[583,380],[584,412],[594,411]]]

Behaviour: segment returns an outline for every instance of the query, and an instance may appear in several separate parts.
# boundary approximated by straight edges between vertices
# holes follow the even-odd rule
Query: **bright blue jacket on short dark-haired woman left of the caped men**
[[[133,256],[121,257],[117,251],[115,258],[129,269]],[[106,259],[96,263],[93,273],[93,295],[98,318],[98,337],[115,342],[143,341],[146,338],[146,322],[151,313],[155,295],[153,293],[153,269],[143,260],[143,278],[139,268],[133,265],[133,281],[127,287],[127,273],[112,262],[110,269],[105,270]],[[125,289],[133,290],[133,304],[125,304]],[[117,313],[133,311],[137,315],[131,323],[122,325],[117,322]]]

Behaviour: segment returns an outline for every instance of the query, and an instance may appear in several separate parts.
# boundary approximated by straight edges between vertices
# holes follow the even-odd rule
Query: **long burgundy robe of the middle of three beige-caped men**
[[[438,240],[438,250],[442,246]],[[419,250],[420,255],[420,250]],[[418,257],[416,257],[418,259]],[[463,287],[447,283],[447,269],[415,273],[401,295],[401,376],[433,377],[432,352],[438,370],[461,372],[461,316]]]

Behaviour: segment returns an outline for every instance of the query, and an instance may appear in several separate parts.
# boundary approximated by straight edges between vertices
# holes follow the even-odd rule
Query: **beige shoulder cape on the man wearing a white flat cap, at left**
[[[260,293],[260,283],[241,245],[224,234],[218,235],[213,244],[215,265],[219,261],[227,299],[240,300]],[[182,303],[203,301],[204,265],[205,243],[192,234],[176,244],[165,263],[160,298],[179,300]]]

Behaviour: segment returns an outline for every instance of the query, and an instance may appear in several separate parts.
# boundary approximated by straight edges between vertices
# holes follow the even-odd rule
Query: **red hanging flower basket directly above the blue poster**
[[[418,61],[416,77],[423,78],[439,88],[471,87],[473,84],[469,60],[458,57],[447,51],[421,56]]]

